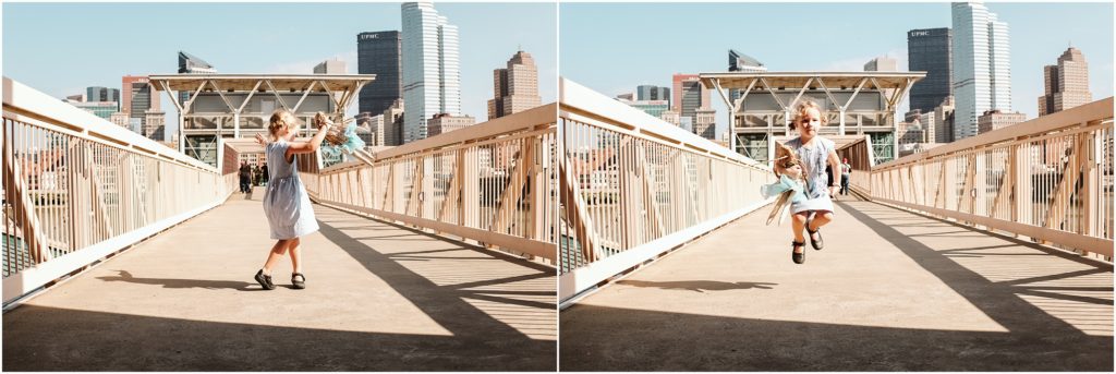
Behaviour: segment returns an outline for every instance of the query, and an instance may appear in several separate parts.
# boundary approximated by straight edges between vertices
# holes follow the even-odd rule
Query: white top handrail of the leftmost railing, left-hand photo
[[[50,97],[7,76],[3,77],[3,107],[7,112],[38,119],[65,131],[79,133],[80,136],[90,141],[218,173],[217,167]]]

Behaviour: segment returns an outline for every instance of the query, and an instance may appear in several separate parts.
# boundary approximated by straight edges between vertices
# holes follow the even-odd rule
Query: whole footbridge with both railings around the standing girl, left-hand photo
[[[359,161],[299,157],[308,288],[225,167],[3,80],[12,371],[554,371],[556,105]],[[18,306],[18,307],[16,307]]]

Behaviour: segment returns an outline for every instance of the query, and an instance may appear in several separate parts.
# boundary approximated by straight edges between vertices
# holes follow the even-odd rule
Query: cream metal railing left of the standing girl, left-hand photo
[[[3,78],[3,299],[220,204],[229,176]]]

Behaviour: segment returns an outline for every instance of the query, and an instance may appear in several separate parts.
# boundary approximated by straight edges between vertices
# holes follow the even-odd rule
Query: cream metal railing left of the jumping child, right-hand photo
[[[770,203],[769,167],[567,79],[559,299]]]

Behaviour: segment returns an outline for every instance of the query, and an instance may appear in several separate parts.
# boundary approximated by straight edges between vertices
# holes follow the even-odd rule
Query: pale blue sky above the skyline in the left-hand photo
[[[465,114],[488,117],[492,69],[519,46],[535,57],[542,102],[555,100],[555,3],[435,8],[459,28]],[[174,74],[179,50],[222,74],[310,74],[331,57],[355,74],[356,35],[400,29],[400,3],[6,2],[2,67],[4,76],[59,98],[88,86],[118,88],[124,75]],[[176,122],[165,94],[163,102],[167,122]]]

